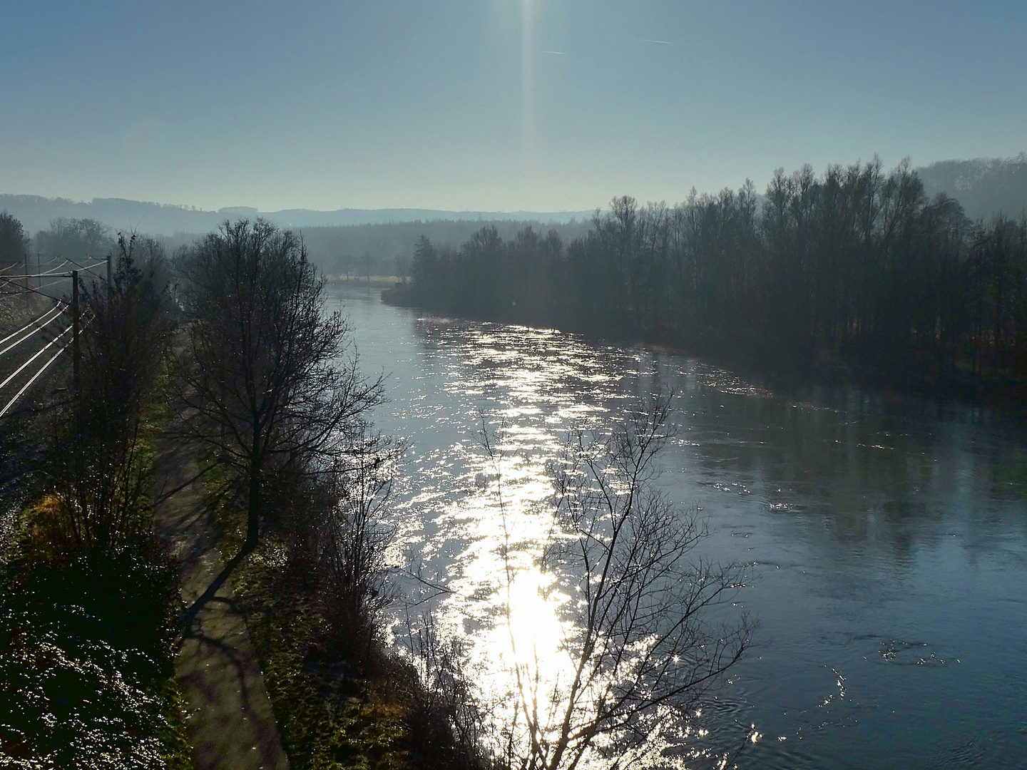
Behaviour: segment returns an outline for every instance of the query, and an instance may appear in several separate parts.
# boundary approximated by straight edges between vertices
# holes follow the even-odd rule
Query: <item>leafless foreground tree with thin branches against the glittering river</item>
[[[503,550],[517,700],[505,730],[508,767],[631,764],[660,745],[667,725],[687,724],[749,645],[747,617],[716,618],[741,587],[741,569],[693,561],[708,534],[697,509],[676,507],[653,487],[669,406],[657,396],[605,437],[575,433],[564,462],[551,466],[554,535],[538,565],[548,578],[539,593],[569,598],[555,677],[540,672],[537,650],[517,649],[516,568]]]

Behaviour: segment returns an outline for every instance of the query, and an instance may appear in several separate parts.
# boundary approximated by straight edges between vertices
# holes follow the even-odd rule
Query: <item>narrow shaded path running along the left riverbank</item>
[[[182,564],[182,598],[191,606],[221,573],[217,530],[194,482],[161,497],[196,473],[195,453],[164,441],[157,457],[157,531],[172,540]],[[199,770],[288,770],[271,701],[231,580],[196,614],[175,660],[185,693],[189,733]]]

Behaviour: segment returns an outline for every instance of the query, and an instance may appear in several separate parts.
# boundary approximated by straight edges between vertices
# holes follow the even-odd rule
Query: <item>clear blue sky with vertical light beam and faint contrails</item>
[[[0,193],[586,210],[1027,150],[1027,3],[0,0]]]

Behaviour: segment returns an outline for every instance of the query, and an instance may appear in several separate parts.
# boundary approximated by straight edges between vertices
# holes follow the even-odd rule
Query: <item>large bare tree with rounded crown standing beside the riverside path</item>
[[[326,311],[324,280],[292,232],[226,222],[182,272],[182,424],[245,485],[242,555],[259,539],[266,480],[335,472],[365,447],[381,379],[360,377],[349,326]]]

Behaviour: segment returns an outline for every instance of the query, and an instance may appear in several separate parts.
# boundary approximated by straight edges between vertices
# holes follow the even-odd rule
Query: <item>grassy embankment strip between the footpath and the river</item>
[[[214,499],[226,480],[207,480]],[[224,502],[216,514],[227,563],[244,540],[244,515]],[[481,767],[473,747],[454,741],[444,699],[410,662],[377,639],[354,655],[359,642],[333,632],[318,601],[321,578],[298,562],[269,537],[232,575],[293,770]]]

